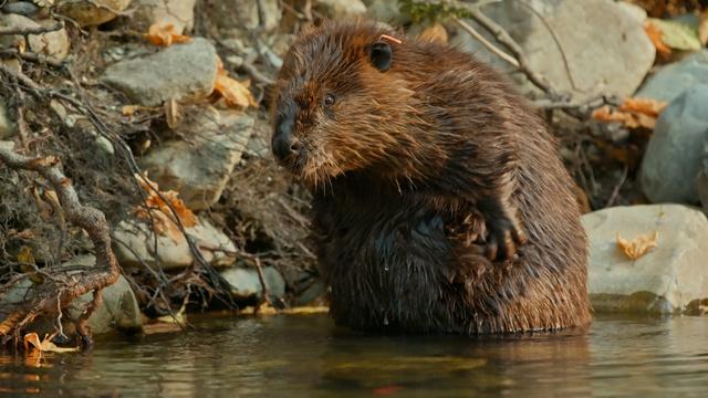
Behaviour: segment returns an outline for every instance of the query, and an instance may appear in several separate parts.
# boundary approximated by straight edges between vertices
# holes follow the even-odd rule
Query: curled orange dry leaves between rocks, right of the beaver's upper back
[[[600,122],[618,122],[628,128],[645,127],[654,129],[656,119],[667,103],[656,100],[626,98],[617,109],[605,105],[593,112],[592,117]]]

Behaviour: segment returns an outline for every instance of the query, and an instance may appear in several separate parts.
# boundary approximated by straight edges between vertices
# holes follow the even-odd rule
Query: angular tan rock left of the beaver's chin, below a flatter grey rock
[[[179,192],[192,210],[216,203],[241,159],[253,130],[253,118],[242,112],[190,107],[175,128],[187,140],[170,140],[152,149],[142,160],[162,189]]]

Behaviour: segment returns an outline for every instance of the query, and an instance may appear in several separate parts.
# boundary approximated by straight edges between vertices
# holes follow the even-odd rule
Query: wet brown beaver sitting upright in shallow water
[[[272,151],[312,192],[330,313],[369,332],[590,322],[587,242],[553,136],[489,66],[371,21],[283,59]]]

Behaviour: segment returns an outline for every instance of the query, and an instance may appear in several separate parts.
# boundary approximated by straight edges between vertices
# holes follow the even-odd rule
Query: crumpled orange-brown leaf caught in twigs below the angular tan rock
[[[146,175],[140,176],[136,174],[135,178],[147,192],[147,199],[145,199],[144,203],[135,208],[135,216],[144,220],[152,219],[155,233],[157,234],[169,237],[175,242],[184,239],[179,227],[177,227],[173,220],[171,209],[175,210],[175,213],[177,213],[179,221],[185,228],[197,224],[195,213],[177,197],[178,193],[176,191],[160,191],[157,184],[149,180]],[[150,186],[154,189],[150,188]]]

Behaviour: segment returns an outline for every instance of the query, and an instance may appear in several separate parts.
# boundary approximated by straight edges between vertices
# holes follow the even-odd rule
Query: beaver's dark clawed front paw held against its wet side
[[[491,261],[512,260],[517,253],[517,247],[527,242],[527,235],[521,227],[507,216],[488,219],[487,230],[485,255]]]

